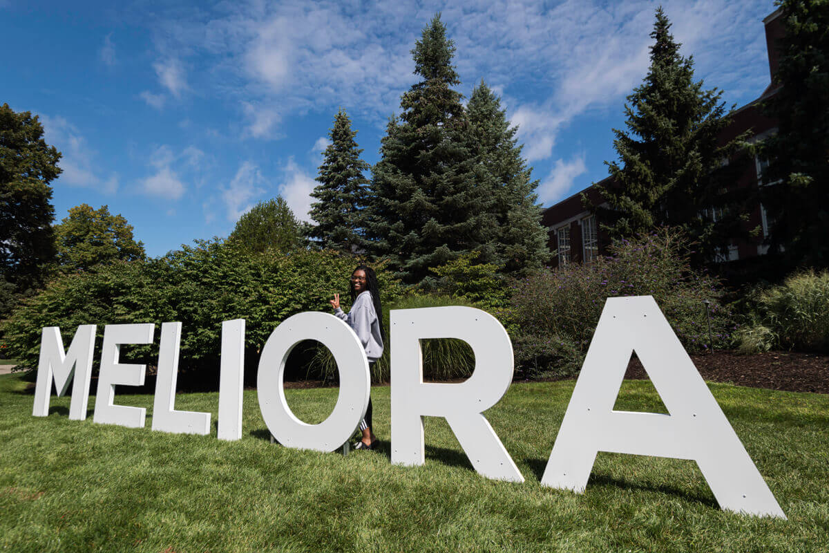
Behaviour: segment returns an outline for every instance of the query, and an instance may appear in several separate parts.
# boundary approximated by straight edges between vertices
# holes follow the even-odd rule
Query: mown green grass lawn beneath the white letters
[[[244,438],[68,420],[68,398],[32,416],[17,375],[0,376],[2,551],[829,551],[829,396],[710,384],[788,521],[722,512],[691,461],[599,454],[586,492],[539,484],[573,381],[515,384],[487,411],[526,478],[478,476],[444,420],[426,421],[423,467],[389,461],[389,388],[372,391],[376,452],[318,454],[269,444],[255,391]],[[323,420],[336,389],[288,390]],[[626,381],[617,409],[659,410]]]

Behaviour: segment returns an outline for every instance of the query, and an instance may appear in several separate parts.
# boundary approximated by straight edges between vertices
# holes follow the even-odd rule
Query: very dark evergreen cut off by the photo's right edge
[[[770,162],[760,197],[771,247],[788,265],[829,266],[829,0],[784,0],[777,92],[765,103],[778,121],[761,155]]]

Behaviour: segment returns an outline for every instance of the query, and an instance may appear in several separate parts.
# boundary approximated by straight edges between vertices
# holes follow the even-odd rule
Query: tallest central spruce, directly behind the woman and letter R
[[[454,51],[438,14],[412,50],[421,80],[400,100],[372,169],[368,250],[408,283],[463,253],[478,252],[482,263],[495,257],[492,177],[462,136]]]

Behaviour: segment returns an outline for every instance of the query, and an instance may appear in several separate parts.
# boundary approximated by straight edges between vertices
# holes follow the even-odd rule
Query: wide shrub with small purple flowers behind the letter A
[[[730,343],[730,312],[719,303],[720,283],[690,269],[681,236],[660,230],[622,240],[611,255],[589,264],[542,270],[514,284],[512,318],[516,364],[528,376],[571,374],[579,370],[605,299],[653,296],[688,351],[705,351],[705,304],[710,304],[713,347]]]

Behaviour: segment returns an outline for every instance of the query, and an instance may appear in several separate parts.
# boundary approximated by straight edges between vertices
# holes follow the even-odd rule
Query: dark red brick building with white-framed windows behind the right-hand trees
[[[783,18],[780,16],[781,10],[778,9],[763,20],[766,47],[768,49],[770,82],[773,82],[773,75],[776,73],[780,61],[775,46],[777,40],[783,36]],[[752,142],[759,142],[769,134],[774,133],[777,130],[776,123],[761,113],[759,104],[775,92],[774,86],[768,85],[763,94],[759,95],[757,99],[736,109],[731,114],[731,123],[720,133],[720,143],[727,143],[745,131],[749,131],[751,137],[749,140]],[[760,176],[764,165],[764,160],[759,158],[744,162],[745,167],[739,172],[739,177],[734,182],[734,188],[748,190],[751,187],[760,186]],[[604,186],[613,186],[612,177],[607,177],[599,183]],[[591,185],[542,212],[542,224],[550,234],[550,250],[558,252],[558,255],[552,261],[553,266],[589,261],[597,255],[604,254],[604,245],[608,244],[608,240],[602,235],[596,216],[584,207],[581,199],[582,194],[587,196],[594,205],[602,203],[599,190],[595,185]],[[745,260],[766,253],[768,246],[764,245],[764,240],[768,236],[768,221],[764,207],[756,204],[748,215],[749,220],[744,223],[744,228],[752,230],[759,227],[762,233],[750,240],[731,240],[728,251],[722,252],[717,261]],[[716,216],[716,213],[713,213],[712,216]]]

